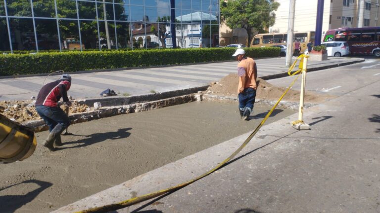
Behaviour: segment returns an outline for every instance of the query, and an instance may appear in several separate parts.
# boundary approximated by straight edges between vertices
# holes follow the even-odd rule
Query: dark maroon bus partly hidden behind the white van
[[[332,29],[327,31],[323,41],[346,41],[351,54],[380,57],[380,27]]]

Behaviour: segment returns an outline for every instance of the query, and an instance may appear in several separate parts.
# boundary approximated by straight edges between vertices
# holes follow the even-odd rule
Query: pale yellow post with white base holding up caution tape
[[[303,57],[303,61],[300,62],[302,66],[302,81],[301,81],[301,94],[299,98],[299,110],[298,110],[298,120],[291,122],[291,126],[297,130],[309,130],[310,125],[303,122],[303,101],[305,98],[305,87],[306,87],[306,70],[307,70],[307,56]]]

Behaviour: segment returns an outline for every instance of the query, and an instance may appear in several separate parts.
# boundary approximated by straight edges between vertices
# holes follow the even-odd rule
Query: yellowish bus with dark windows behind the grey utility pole
[[[270,34],[257,34],[253,37],[250,47],[270,47],[273,45],[285,45],[286,46],[287,33],[270,33]],[[294,32],[293,43],[298,40],[301,44],[301,51],[307,49],[307,43],[310,40],[315,40],[314,31],[306,32]]]

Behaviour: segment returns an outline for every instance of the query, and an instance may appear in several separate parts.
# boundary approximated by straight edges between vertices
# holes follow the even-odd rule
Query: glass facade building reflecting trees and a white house
[[[0,0],[0,51],[219,45],[219,0]]]

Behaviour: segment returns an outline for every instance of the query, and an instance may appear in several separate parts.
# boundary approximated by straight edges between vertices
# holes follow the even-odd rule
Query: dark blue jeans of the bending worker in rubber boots
[[[38,114],[44,119],[49,127],[49,132],[59,123],[66,128],[70,125],[70,119],[60,107],[36,106]]]

